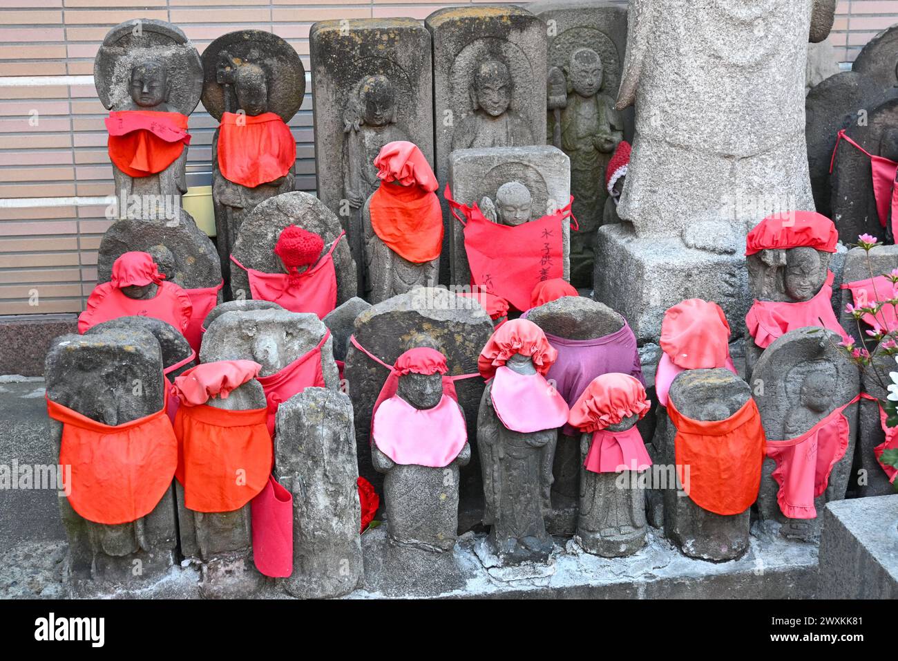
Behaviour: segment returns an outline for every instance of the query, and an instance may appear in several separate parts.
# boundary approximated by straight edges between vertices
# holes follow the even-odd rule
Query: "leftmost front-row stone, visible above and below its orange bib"
[[[159,343],[141,328],[62,335],[47,354],[47,396],[97,422],[125,424],[163,407],[162,367]],[[141,384],[139,395],[135,382]],[[48,421],[57,452],[62,429],[56,420]],[[62,495],[59,513],[68,537],[68,575],[76,581],[134,585],[158,580],[175,562],[178,526],[171,488],[150,514],[132,523],[92,523]]]

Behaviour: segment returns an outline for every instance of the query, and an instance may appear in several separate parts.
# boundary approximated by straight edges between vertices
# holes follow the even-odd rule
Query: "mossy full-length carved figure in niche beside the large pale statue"
[[[602,185],[605,168],[623,139],[623,117],[614,110],[612,96],[602,91],[602,58],[593,49],[571,52],[565,75],[568,100],[560,112],[558,147],[570,156],[573,212],[580,224],[577,234],[571,235],[571,281],[588,286],[594,262],[592,233],[602,224],[608,198]]]

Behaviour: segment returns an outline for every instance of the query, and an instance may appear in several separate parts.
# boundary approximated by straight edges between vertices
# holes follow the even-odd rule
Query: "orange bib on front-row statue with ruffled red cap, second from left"
[[[231,512],[259,494],[273,457],[267,416],[267,408],[180,406],[175,477],[184,487],[184,505],[194,512]]]

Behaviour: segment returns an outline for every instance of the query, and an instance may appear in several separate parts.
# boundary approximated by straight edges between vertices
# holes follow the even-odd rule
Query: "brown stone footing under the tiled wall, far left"
[[[50,342],[77,332],[77,315],[0,316],[0,374],[42,376]]]

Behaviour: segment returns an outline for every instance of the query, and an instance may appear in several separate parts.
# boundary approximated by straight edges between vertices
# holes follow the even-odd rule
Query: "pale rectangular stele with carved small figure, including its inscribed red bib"
[[[564,152],[546,145],[460,149],[450,158],[449,187],[460,219],[451,228],[453,285],[473,281],[523,312],[540,281],[570,279],[570,159]],[[482,217],[473,212],[475,204]],[[515,250],[506,248],[509,243]]]

